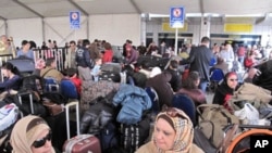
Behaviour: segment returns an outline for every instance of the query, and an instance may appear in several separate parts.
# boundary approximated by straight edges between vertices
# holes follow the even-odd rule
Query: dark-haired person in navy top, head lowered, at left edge
[[[1,92],[20,89],[22,79],[16,66],[9,62],[4,63],[1,67],[1,74],[4,77],[3,81],[0,82]]]

